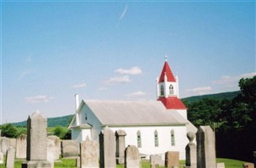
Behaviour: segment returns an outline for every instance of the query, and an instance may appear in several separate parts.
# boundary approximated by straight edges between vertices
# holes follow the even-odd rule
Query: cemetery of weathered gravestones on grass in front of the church
[[[200,126],[197,133],[189,132],[187,134],[189,143],[184,149],[186,160],[180,161],[178,151],[166,151],[165,158],[162,158],[161,155],[151,155],[150,160],[142,160],[135,145],[125,144],[123,130],[114,133],[105,127],[99,134],[99,142],[86,139],[78,143],[76,140],[61,140],[54,135],[47,137],[47,119],[39,111],[32,113],[27,122],[27,135],[21,135],[17,139],[1,137],[1,166],[13,168],[16,160],[15,167],[22,168],[226,167],[224,162],[220,162],[221,160],[216,162],[215,133],[210,126]],[[118,139],[119,143],[116,146],[115,136],[120,136],[120,134],[124,136]],[[196,144],[193,142],[195,138]],[[243,163],[243,167],[250,168],[253,167],[253,164]]]

